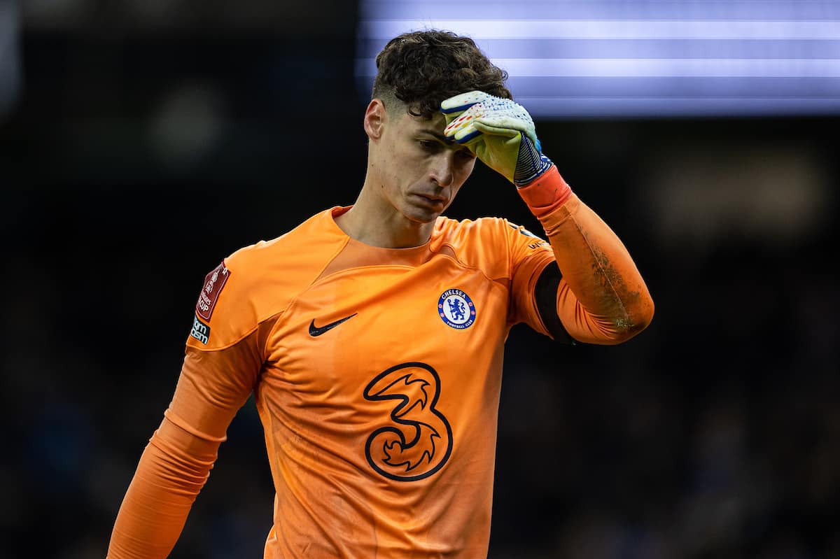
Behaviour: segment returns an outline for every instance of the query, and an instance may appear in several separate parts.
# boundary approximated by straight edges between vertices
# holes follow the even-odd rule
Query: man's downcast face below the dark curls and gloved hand
[[[391,111],[376,145],[381,195],[411,222],[433,222],[472,173],[475,155],[444,138],[443,114],[432,119]]]

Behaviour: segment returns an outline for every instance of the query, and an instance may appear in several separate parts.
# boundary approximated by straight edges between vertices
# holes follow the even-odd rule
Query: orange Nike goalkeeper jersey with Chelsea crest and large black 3
[[[223,440],[253,390],[276,486],[265,556],[485,557],[504,342],[548,334],[554,260],[504,219],[375,248],[322,212],[208,274],[166,417]]]

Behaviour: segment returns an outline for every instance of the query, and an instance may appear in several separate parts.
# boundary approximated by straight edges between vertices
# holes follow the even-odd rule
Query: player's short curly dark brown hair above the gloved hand
[[[507,71],[496,67],[475,41],[451,31],[431,29],[397,35],[376,55],[373,97],[386,109],[402,103],[407,111],[432,118],[440,103],[465,91],[486,91],[512,99]]]

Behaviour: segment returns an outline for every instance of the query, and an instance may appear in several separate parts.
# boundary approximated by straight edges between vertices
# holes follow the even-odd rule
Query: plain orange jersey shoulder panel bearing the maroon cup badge
[[[208,335],[188,342],[201,349],[228,347],[285,311],[347,241],[334,227],[331,211],[224,258],[205,277],[196,303],[196,321],[202,324],[194,326],[207,327]]]

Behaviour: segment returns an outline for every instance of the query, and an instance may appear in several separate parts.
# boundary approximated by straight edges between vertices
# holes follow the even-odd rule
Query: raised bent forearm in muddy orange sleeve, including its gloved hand
[[[440,109],[446,138],[516,185],[542,222],[563,274],[557,311],[566,331],[582,342],[619,343],[647,327],[654,304],[627,248],[542,153],[528,111],[484,91],[449,97]]]

